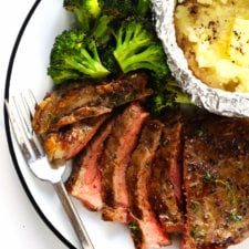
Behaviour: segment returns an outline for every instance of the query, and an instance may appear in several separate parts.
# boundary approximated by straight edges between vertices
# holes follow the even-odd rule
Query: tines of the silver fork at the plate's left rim
[[[44,155],[42,137],[38,137],[33,132],[32,117],[37,101],[31,91],[13,96],[12,103],[4,101],[10,124],[24,158],[34,160]]]

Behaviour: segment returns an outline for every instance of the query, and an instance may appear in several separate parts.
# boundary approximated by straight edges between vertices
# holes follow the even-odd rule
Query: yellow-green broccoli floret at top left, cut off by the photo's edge
[[[63,7],[73,12],[77,24],[84,32],[89,32],[101,13],[98,0],[64,0]]]

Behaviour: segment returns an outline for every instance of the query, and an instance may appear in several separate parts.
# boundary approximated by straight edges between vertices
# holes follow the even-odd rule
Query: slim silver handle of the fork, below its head
[[[84,225],[65,189],[65,186],[62,180],[56,184],[53,184],[54,189],[64,207],[64,210],[71,221],[72,227],[81,242],[83,249],[94,249],[91,239],[85,230]]]

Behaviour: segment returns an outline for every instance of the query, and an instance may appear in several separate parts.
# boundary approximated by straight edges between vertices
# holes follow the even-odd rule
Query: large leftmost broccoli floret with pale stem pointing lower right
[[[55,83],[75,79],[101,79],[110,74],[98,56],[94,39],[76,30],[63,31],[51,50],[48,74]]]

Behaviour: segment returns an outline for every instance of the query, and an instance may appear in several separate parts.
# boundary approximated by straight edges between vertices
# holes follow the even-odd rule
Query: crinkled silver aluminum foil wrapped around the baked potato
[[[176,0],[152,0],[157,34],[163,41],[172,74],[197,106],[225,116],[249,116],[249,93],[231,93],[209,87],[188,69],[187,60],[176,42],[174,27],[176,2]]]

